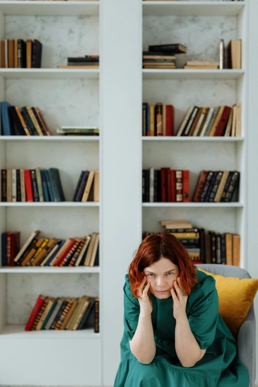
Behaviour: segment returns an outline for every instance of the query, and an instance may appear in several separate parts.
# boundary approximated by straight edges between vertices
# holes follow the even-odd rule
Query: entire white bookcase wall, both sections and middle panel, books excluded
[[[0,69],[0,100],[18,106],[23,106],[23,98],[32,106],[31,101],[35,100],[45,112],[53,134],[57,124],[82,125],[83,119],[92,120],[93,125],[97,118],[101,129],[99,138],[0,138],[0,168],[19,168],[21,160],[28,168],[31,160],[37,160],[37,166],[59,168],[64,171],[61,180],[68,198],[65,203],[0,204],[1,232],[7,228],[27,230],[22,231],[24,240],[36,228],[44,234],[57,233],[62,237],[81,235],[82,230],[83,234],[93,229],[100,232],[99,267],[0,268],[2,384],[113,386],[123,335],[124,276],[141,242],[142,231],[162,231],[162,219],[187,218],[206,229],[239,233],[241,266],[248,268],[249,256],[253,254],[247,249],[247,142],[252,129],[247,110],[248,6],[248,1],[0,0],[0,39],[6,36],[6,28],[7,35],[12,37],[11,26],[22,27],[26,36],[25,18],[30,17],[34,31],[30,35],[40,38],[44,48],[46,32],[34,27],[50,22],[55,26],[51,30],[52,42],[45,42],[45,46],[52,44],[52,51],[44,57],[46,68]],[[176,23],[172,23],[175,18]],[[224,28],[227,23],[229,28]],[[48,27],[52,28],[50,24]],[[202,31],[198,31],[198,26],[203,27]],[[69,29],[71,34],[66,33]],[[97,47],[96,31],[100,37]],[[187,41],[190,36],[191,43]],[[225,43],[242,39],[241,70],[142,69],[142,49],[151,42],[185,43],[189,51],[187,60],[203,59],[204,55],[217,60],[215,51],[218,53],[220,38]],[[73,55],[80,55],[86,47],[96,49],[101,58],[100,69],[56,69],[54,66],[64,64],[64,56],[68,56],[66,43]],[[57,55],[52,59],[54,47]],[[30,95],[26,94],[28,89]],[[175,128],[193,102],[200,106],[241,102],[242,135],[142,137],[143,101],[174,105]],[[142,168],[152,166],[189,169],[192,190],[202,169],[237,169],[241,172],[239,201],[142,203]],[[79,170],[83,168],[100,170],[100,203],[71,202]],[[100,296],[100,334],[86,330],[37,335],[38,332],[25,332],[24,322],[17,324],[24,310],[18,308],[14,313],[15,297],[26,298],[33,304],[31,300],[41,289],[52,289],[54,293],[59,286],[64,293],[87,294],[92,289],[94,295]],[[28,354],[32,353],[37,356],[30,358],[30,372],[24,372]],[[67,353],[73,354],[69,357],[69,371]],[[17,365],[15,373],[13,364]],[[44,375],[43,365],[48,371]]]

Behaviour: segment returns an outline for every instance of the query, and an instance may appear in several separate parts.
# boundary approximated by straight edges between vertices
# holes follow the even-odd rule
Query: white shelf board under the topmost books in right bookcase
[[[188,69],[142,69],[143,80],[237,80],[245,74],[244,70],[188,70]]]

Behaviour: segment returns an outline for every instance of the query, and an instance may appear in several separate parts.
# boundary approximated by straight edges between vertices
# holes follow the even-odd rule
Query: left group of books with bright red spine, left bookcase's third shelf
[[[63,202],[64,192],[57,168],[1,170],[2,202]]]

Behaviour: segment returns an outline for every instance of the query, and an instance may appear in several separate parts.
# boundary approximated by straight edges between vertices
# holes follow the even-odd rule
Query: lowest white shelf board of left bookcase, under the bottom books
[[[57,331],[53,329],[42,331],[25,331],[24,325],[5,325],[0,331],[1,339],[100,339],[100,333],[94,333],[94,329],[79,331]]]

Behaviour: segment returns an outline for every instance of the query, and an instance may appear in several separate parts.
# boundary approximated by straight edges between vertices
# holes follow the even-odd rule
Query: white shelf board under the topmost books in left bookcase
[[[0,77],[4,79],[99,79],[99,69],[0,69]]]

